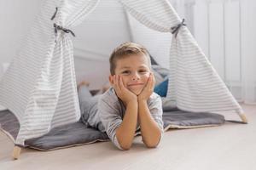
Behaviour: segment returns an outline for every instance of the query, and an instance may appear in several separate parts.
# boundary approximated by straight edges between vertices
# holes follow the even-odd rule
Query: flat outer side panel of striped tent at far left
[[[40,15],[50,18],[50,14],[52,11],[45,7],[42,8],[38,17],[40,20],[35,20],[28,36],[21,43],[20,51],[12,60],[0,82],[0,100],[3,105],[15,113],[20,122],[44,59],[40,57],[40,54],[45,54],[45,49],[49,46],[48,35],[51,35],[51,32],[44,27],[51,26],[51,24],[49,20],[44,20]],[[38,39],[40,41],[37,41]]]

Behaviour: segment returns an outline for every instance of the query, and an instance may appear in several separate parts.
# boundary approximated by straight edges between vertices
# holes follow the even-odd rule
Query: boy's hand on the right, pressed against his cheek
[[[154,83],[155,83],[154,75],[151,72],[148,77],[148,82],[147,82],[146,86],[143,88],[143,91],[141,92],[141,94],[139,94],[137,96],[137,99],[139,101],[148,100],[150,95],[154,92]]]

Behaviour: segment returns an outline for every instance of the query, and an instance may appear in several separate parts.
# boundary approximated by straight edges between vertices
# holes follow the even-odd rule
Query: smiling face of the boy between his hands
[[[115,65],[115,75],[122,77],[125,88],[133,94],[141,94],[150,74],[147,56],[131,54],[123,59],[117,59]],[[110,76],[109,80],[113,84],[113,76]]]

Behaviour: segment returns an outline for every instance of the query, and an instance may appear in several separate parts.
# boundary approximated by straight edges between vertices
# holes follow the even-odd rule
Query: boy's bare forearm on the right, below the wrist
[[[138,101],[138,119],[143,143],[149,148],[156,147],[160,142],[161,129],[150,114],[147,100]]]

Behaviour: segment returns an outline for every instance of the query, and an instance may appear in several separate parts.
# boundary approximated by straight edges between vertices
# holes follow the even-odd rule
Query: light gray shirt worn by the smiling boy
[[[97,116],[100,118],[100,121],[102,122],[102,125],[105,128],[105,132],[108,134],[109,139],[111,139],[113,144],[122,150],[116,138],[116,129],[120,126],[125,116],[125,105],[117,97],[113,88],[109,88],[105,94],[102,94],[102,97],[99,99],[97,108]],[[161,99],[158,94],[151,94],[148,99],[148,109],[151,113],[151,116],[154,118],[154,121],[158,123],[162,135],[164,132],[162,121],[163,111]],[[137,123],[137,130],[138,129],[139,125]]]

